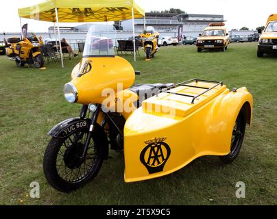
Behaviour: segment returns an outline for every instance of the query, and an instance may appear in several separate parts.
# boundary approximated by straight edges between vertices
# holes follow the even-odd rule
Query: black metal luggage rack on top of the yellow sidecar
[[[202,86],[193,86],[193,85],[190,85],[190,84],[189,84],[189,83],[191,83],[191,82],[197,83],[198,81],[200,81],[200,82],[208,82],[208,83],[215,83],[215,86],[210,87],[210,88],[205,88],[205,87],[202,87]],[[178,93],[178,92],[171,92],[171,91],[170,91],[171,89],[177,88],[177,87],[179,87],[179,86],[184,86],[184,87],[189,87],[189,88],[200,88],[200,89],[203,89],[204,92],[202,92],[202,93],[200,93],[200,94],[197,94],[197,95],[193,96],[193,95],[189,95],[189,94],[181,94],[181,93]],[[189,80],[189,81],[183,81],[183,82],[181,82],[181,83],[177,83],[177,84],[175,84],[174,86],[171,86],[171,87],[169,87],[169,88],[164,88],[164,89],[160,90],[160,92],[159,92],[158,94],[160,94],[160,93],[162,93],[162,92],[165,92],[165,93],[168,93],[168,94],[176,94],[176,95],[180,95],[180,96],[189,96],[189,97],[192,98],[191,103],[195,103],[195,102],[194,102],[195,99],[197,99],[199,96],[205,94],[206,92],[208,92],[208,91],[210,91],[210,90],[216,88],[217,86],[223,86],[223,82],[222,82],[222,81],[210,81],[210,80],[204,80],[204,79],[197,79],[197,78],[195,78],[195,79],[191,79],[191,80]],[[158,94],[157,94],[157,96],[158,96]]]

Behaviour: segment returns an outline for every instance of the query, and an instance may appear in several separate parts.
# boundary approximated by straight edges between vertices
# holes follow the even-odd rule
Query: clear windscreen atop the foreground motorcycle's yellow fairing
[[[88,29],[84,56],[114,56],[117,31],[110,23],[94,24]]]

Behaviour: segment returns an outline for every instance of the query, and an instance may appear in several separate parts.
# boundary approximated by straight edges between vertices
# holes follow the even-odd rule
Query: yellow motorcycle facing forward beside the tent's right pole
[[[155,31],[154,27],[148,26],[143,31],[143,34],[139,36],[143,38],[143,50],[145,51],[146,60],[150,60],[160,49],[160,47],[158,47],[159,34]]]

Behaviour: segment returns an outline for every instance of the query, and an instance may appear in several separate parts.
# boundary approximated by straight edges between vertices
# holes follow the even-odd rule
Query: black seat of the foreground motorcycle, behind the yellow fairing
[[[171,86],[174,86],[174,83],[141,83],[132,86],[129,90],[139,96],[139,101],[135,105],[136,107],[141,107],[141,103],[145,99],[155,96],[160,90]]]

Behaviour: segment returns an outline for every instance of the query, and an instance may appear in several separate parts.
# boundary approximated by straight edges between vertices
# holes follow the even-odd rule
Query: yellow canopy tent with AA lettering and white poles
[[[134,0],[47,0],[27,8],[20,8],[19,17],[37,21],[50,21],[54,23],[54,27],[57,23],[59,41],[59,22],[107,22],[132,19],[134,60],[136,61],[134,18],[145,18],[145,12]],[[61,42],[60,48],[62,48]],[[62,49],[60,49],[60,55],[62,67],[64,67]]]

